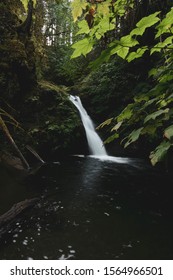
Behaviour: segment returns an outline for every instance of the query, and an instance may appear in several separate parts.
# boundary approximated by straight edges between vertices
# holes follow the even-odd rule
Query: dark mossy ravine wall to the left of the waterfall
[[[20,1],[0,3],[0,109],[22,127],[21,130],[8,123],[9,131],[26,157],[29,144],[46,160],[51,153],[56,156],[71,153],[74,146],[79,145],[76,139],[81,139],[83,132],[78,129],[80,120],[68,100],[68,90],[38,81],[33,26],[30,24],[29,30],[20,28],[27,19],[25,16],[21,21],[19,15],[22,14]],[[8,120],[8,116],[3,118]],[[2,137],[0,151],[13,154],[8,139],[5,135]]]

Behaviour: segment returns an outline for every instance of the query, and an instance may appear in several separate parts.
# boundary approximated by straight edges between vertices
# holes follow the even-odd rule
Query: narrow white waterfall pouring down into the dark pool
[[[78,96],[70,95],[70,100],[79,110],[91,154],[93,156],[107,156],[104,144],[96,133],[93,122],[82,106],[80,98]]]

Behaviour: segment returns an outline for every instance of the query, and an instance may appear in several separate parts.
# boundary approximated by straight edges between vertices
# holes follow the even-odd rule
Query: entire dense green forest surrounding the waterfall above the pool
[[[72,86],[102,122],[105,143],[148,145],[153,165],[171,154],[172,1],[7,0],[0,8],[0,127],[10,145],[61,153],[83,141]]]

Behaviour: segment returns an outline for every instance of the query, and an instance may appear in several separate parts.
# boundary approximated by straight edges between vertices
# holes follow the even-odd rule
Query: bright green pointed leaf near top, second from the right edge
[[[160,12],[155,12],[154,14],[151,14],[147,17],[143,17],[137,24],[136,28],[133,29],[130,33],[131,36],[133,35],[143,35],[145,32],[145,29],[148,27],[153,26],[155,23],[157,23],[160,19],[157,17],[157,15]]]

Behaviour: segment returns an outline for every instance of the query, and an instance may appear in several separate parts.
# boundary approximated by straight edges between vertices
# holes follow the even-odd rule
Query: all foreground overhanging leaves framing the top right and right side
[[[102,63],[107,67],[111,57],[116,59],[115,55],[129,63],[142,56],[153,60],[148,86],[135,91],[133,100],[120,114],[107,119],[100,127],[111,127],[111,135],[105,142],[120,138],[124,147],[128,147],[142,136],[145,141],[155,143],[155,149],[150,153],[155,165],[173,145],[173,8],[171,1],[137,2],[92,1],[89,5],[86,1],[80,4],[74,0],[74,21],[79,19],[78,34],[83,35],[73,45],[72,57],[86,56],[106,41],[100,56],[91,64],[93,68]],[[94,10],[92,25],[87,20],[91,9]],[[140,16],[139,11],[142,12]],[[133,24],[129,26],[130,21]]]

